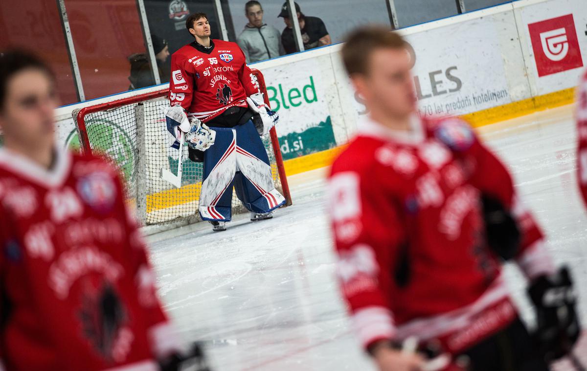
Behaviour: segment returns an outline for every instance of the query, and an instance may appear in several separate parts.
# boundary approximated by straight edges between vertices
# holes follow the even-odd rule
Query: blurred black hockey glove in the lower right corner
[[[537,314],[534,339],[547,362],[571,352],[581,333],[576,313],[576,295],[568,268],[551,276],[540,276],[528,289]]]

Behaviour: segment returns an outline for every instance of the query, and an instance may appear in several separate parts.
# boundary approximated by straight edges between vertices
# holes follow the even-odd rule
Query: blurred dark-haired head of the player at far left
[[[0,52],[0,130],[6,147],[51,148],[57,104],[55,75],[42,59],[23,50]]]

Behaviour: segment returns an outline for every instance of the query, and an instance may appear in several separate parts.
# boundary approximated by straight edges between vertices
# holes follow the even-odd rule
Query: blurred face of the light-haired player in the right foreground
[[[400,118],[416,112],[417,98],[411,66],[410,53],[405,49],[373,50],[366,72],[352,76],[367,109]]]

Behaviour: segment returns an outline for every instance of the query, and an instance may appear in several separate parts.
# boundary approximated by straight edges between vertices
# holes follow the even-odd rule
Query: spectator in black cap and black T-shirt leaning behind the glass
[[[298,3],[294,4],[296,15],[298,16],[299,28],[302,33],[304,50],[330,45],[332,39],[330,39],[328,31],[326,31],[326,26],[324,25],[324,22],[322,22],[322,19],[303,15]],[[298,51],[298,48],[296,48],[294,25],[292,20],[289,19],[289,2],[284,3],[281,7],[281,13],[279,13],[278,16],[284,18],[286,26],[281,33],[281,42],[284,45],[285,52],[288,54],[295,53]]]

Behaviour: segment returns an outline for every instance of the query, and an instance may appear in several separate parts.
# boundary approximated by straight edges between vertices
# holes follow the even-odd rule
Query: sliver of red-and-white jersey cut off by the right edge
[[[579,190],[587,206],[587,70],[579,83],[577,93],[577,179]]]

